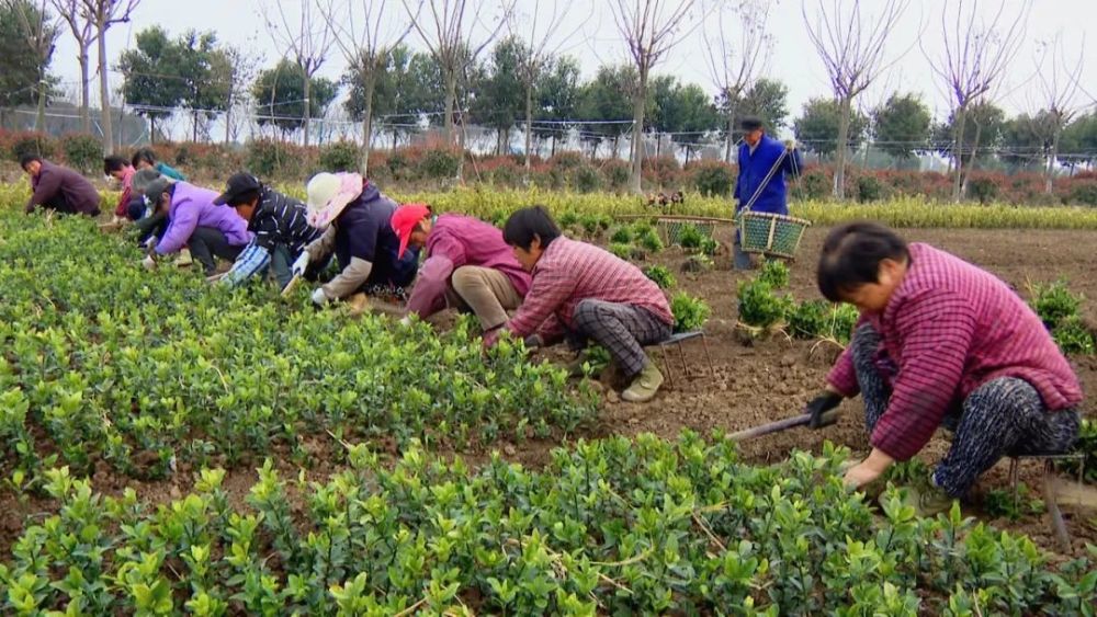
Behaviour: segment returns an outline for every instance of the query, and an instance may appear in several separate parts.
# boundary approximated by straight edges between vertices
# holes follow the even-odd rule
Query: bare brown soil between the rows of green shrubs
[[[810,229],[800,248],[801,261],[791,265],[790,292],[796,299],[818,297],[814,285],[814,256],[818,254],[826,229]],[[1074,292],[1087,298],[1097,298],[1097,277],[1093,276],[1093,255],[1097,253],[1097,235],[1087,231],[1059,230],[943,230],[918,229],[904,231],[911,241],[928,242],[953,252],[1025,290],[1029,283],[1048,282],[1065,277]],[[716,258],[716,268],[706,273],[686,273],[681,266],[687,255],[680,249],[668,249],[649,256],[647,264],[659,264],[671,270],[678,279],[678,289],[699,296],[712,307],[712,318],[705,325],[705,340],[691,340],[678,349],[667,349],[664,361],[659,350],[652,353],[664,367],[667,378],[656,399],[646,404],[621,402],[611,377],[603,379],[606,402],[593,425],[578,433],[559,436],[550,441],[527,441],[520,444],[498,443],[505,458],[520,461],[530,467],[541,467],[548,459],[552,448],[577,438],[596,438],[612,434],[636,435],[655,433],[675,438],[683,429],[709,434],[713,430],[739,431],[758,424],[772,422],[800,414],[804,404],[822,387],[827,369],[839,350],[832,343],[793,341],[780,334],[760,340],[749,340],[736,328],[735,290],[739,281],[749,273],[734,272],[730,267],[730,228],[717,229],[721,254]],[[1097,302],[1083,306],[1084,317],[1089,323],[1097,322]],[[682,356],[688,374],[682,367]],[[563,351],[546,353],[551,359],[565,361],[569,356]],[[664,364],[666,362],[666,364]],[[711,364],[710,364],[711,362]],[[1089,398],[1081,411],[1087,416],[1097,416],[1097,403],[1093,393],[1097,392],[1097,357],[1072,358],[1083,388]],[[844,413],[838,423],[821,431],[793,429],[783,433],[767,435],[740,444],[742,456],[758,464],[773,462],[788,457],[793,449],[819,452],[825,441],[848,446],[855,454],[864,453],[867,434],[860,420],[862,408],[855,400],[844,403]],[[948,442],[937,436],[919,455],[927,464],[934,464],[947,450]],[[283,448],[284,449],[284,448]],[[310,453],[310,480],[323,480],[341,468],[342,446],[326,435],[318,435],[306,444]],[[395,447],[386,448],[395,454]],[[462,453],[475,464],[485,460],[488,452]],[[278,456],[279,468],[284,479],[296,477],[296,468],[291,462],[289,452]],[[261,460],[241,464],[231,469],[225,487],[235,503],[242,503],[251,484],[258,479],[255,468]],[[983,477],[966,514],[987,518],[981,511],[980,496],[991,489],[1007,489],[1007,462],[1002,461]],[[1038,496],[1042,478],[1041,465],[1027,462],[1022,466],[1021,479],[1029,484],[1030,493]],[[121,478],[105,466],[97,469],[92,478],[97,490],[106,494],[120,494],[126,487],[137,490],[148,502],[162,503],[185,494],[193,485],[193,470],[181,466],[169,480],[143,482]],[[1088,492],[1087,492],[1088,491]],[[1083,555],[1085,542],[1097,542],[1097,510],[1093,509],[1092,488],[1079,489],[1088,495],[1085,499],[1062,500],[1062,509],[1067,529],[1073,537],[1070,552]],[[1088,506],[1077,505],[1089,501]],[[299,502],[298,502],[299,503]],[[0,494],[0,555],[7,555],[10,545],[22,533],[27,516],[39,521],[43,512],[55,505],[49,500],[32,499],[20,502],[10,491]],[[1020,522],[1005,519],[991,521],[1003,528],[1029,534],[1043,548],[1061,552],[1051,534],[1048,516],[1028,516]]]

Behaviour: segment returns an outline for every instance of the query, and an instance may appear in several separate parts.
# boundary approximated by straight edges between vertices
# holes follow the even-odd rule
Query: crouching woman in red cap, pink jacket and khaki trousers
[[[479,219],[445,214],[432,216],[423,204],[406,204],[392,218],[400,239],[399,254],[408,247],[427,248],[427,261],[408,299],[407,323],[449,307],[472,310],[485,332],[507,322],[530,289],[530,275],[502,241],[502,232]]]

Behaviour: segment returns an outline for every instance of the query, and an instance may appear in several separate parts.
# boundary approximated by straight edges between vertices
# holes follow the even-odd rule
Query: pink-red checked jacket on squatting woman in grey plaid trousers
[[[553,240],[533,266],[533,285],[506,328],[517,338],[539,333],[545,342],[572,329],[580,300],[598,299],[640,307],[664,323],[675,322],[667,296],[635,265],[567,238]],[[495,342],[490,336],[486,344]]]

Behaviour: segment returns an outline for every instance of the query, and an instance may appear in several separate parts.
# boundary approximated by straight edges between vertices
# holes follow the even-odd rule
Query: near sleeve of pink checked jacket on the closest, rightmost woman
[[[976,324],[972,304],[951,292],[927,290],[905,305],[895,323],[903,358],[870,439],[896,460],[917,454],[940,425],[963,378]]]

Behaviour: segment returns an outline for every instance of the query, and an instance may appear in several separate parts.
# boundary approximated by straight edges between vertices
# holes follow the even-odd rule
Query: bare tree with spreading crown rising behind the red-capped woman
[[[513,0],[500,0],[502,14],[496,20],[494,26],[488,25],[482,19],[484,5],[482,3],[470,2],[468,0],[427,0],[428,11],[412,9],[415,5],[409,0],[402,0],[404,9],[407,11],[411,25],[422,38],[423,44],[434,57],[439,69],[442,71],[442,81],[445,84],[445,139],[453,141],[453,105],[457,99],[457,80],[461,79],[468,68],[476,61],[480,53],[495,39],[499,31],[507,23],[514,7]],[[470,7],[470,4],[474,4]],[[421,9],[422,2],[419,3]],[[487,34],[479,42],[473,41],[472,28],[474,25],[484,25]],[[464,124],[462,122],[462,124]]]

